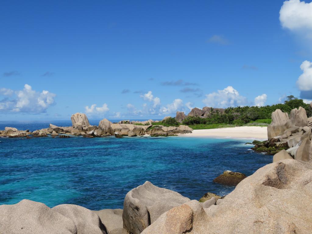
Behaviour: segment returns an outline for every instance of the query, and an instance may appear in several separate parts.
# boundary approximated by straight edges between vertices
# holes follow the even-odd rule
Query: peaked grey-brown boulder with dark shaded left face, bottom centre
[[[189,201],[187,197],[149,181],[132,189],[124,198],[123,222],[129,233],[139,234],[164,212]]]

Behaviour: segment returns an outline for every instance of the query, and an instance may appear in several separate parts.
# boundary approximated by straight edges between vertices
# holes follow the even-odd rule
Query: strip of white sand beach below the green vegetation
[[[267,140],[267,127],[243,126],[235,128],[193,130],[190,134],[179,134],[181,137],[221,137]]]

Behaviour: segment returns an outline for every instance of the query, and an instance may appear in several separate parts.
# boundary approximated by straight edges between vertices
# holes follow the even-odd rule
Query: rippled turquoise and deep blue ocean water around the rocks
[[[19,129],[34,130],[33,125],[24,123]],[[47,125],[37,123],[35,129]],[[49,207],[70,203],[93,210],[122,208],[126,193],[147,180],[196,200],[207,192],[226,195],[234,187],[212,182],[224,170],[251,175],[272,161],[272,156],[250,150],[246,141],[0,138],[0,205],[30,199]]]

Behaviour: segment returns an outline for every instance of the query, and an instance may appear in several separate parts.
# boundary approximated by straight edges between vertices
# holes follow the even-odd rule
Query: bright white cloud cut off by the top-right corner
[[[285,1],[280,8],[280,22],[290,30],[312,30],[312,2]]]

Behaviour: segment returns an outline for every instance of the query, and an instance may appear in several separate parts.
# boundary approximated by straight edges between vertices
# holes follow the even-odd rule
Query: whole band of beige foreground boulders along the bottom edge
[[[206,194],[205,194],[206,196]],[[312,163],[286,159],[244,178],[225,197],[198,202],[150,182],[129,191],[124,208],[49,208],[22,200],[0,206],[3,234],[311,233]]]

